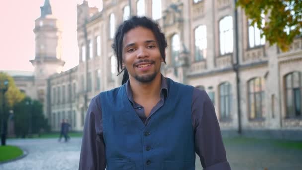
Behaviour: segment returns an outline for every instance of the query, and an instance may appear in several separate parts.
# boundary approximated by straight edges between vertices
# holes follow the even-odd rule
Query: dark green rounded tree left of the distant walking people
[[[43,105],[30,97],[24,98],[14,106],[14,124],[16,136],[25,137],[28,133],[40,134],[49,131],[47,119],[43,115]]]

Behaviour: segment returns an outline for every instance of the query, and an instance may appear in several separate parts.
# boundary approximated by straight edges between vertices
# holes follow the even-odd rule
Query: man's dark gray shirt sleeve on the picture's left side
[[[99,95],[91,100],[83,131],[79,170],[105,170],[105,144]]]

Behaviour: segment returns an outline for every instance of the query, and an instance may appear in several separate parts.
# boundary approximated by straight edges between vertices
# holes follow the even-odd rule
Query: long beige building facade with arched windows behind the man
[[[139,15],[166,35],[163,75],[207,91],[222,131],[302,138],[301,37],[288,52],[270,46],[232,0],[103,0],[101,11],[84,1],[77,12],[79,65],[47,79],[53,130],[69,117],[81,131],[90,100],[120,85],[112,38]]]

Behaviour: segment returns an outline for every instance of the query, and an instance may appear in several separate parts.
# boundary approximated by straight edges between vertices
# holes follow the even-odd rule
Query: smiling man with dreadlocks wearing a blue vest
[[[92,99],[80,170],[230,170],[220,128],[205,91],[160,73],[167,47],[157,23],[132,17],[113,49],[123,85]]]

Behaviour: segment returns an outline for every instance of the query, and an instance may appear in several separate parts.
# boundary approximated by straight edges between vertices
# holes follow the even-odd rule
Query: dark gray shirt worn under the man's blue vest
[[[144,107],[134,102],[130,82],[126,83],[129,102],[145,125],[148,124],[151,116],[164,105],[165,99],[169,95],[167,80],[163,76],[161,82],[160,101],[151,110],[148,117],[145,116]],[[191,108],[195,151],[200,157],[204,170],[230,170],[215,109],[205,91],[194,88]],[[106,146],[103,139],[101,110],[100,97],[97,95],[91,100],[85,119],[79,170],[105,170],[106,168]]]

